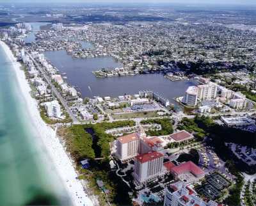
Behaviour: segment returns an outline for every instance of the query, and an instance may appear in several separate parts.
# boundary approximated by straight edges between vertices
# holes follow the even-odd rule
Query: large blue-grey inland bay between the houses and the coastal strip
[[[121,63],[111,57],[75,59],[65,51],[44,52],[45,57],[57,67],[61,73],[67,73],[68,83],[77,86],[83,97],[111,96],[135,94],[140,90],[158,91],[163,97],[172,100],[184,95],[188,86],[195,85],[193,79],[170,81],[163,74],[141,74],[125,77],[100,78],[92,74],[100,68],[122,67]]]

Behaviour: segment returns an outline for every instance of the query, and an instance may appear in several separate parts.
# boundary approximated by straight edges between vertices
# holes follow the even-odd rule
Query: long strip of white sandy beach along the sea
[[[31,89],[26,81],[24,72],[20,70],[20,63],[16,61],[12,51],[10,51],[9,47],[4,44],[4,42],[0,41],[0,45],[13,63],[14,72],[17,77],[16,79],[19,83],[20,90],[22,91],[22,96],[26,100],[25,103],[28,107],[29,116],[31,116],[31,122],[35,124],[38,138],[42,140],[42,143],[44,144],[43,146],[51,157],[52,164],[56,168],[63,185],[66,187],[73,205],[93,205],[92,200],[90,200],[84,192],[80,180],[77,180],[77,174],[74,166],[72,166],[72,161],[68,158],[60,140],[56,137],[56,132],[51,127],[48,127],[40,117],[37,102],[29,94]]]

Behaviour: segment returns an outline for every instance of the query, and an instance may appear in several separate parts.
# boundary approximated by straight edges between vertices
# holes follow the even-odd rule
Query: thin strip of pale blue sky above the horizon
[[[0,0],[0,3],[186,3],[186,4],[256,4],[256,0]]]

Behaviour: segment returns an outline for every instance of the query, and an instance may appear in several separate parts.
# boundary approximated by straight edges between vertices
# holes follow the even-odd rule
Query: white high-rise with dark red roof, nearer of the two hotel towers
[[[134,179],[139,184],[153,180],[163,174],[163,154],[148,152],[135,157]]]

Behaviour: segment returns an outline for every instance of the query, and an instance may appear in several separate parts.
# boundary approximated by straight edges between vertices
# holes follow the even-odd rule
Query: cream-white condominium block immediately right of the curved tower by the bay
[[[198,85],[198,99],[211,100],[216,99],[218,85],[215,83]]]

